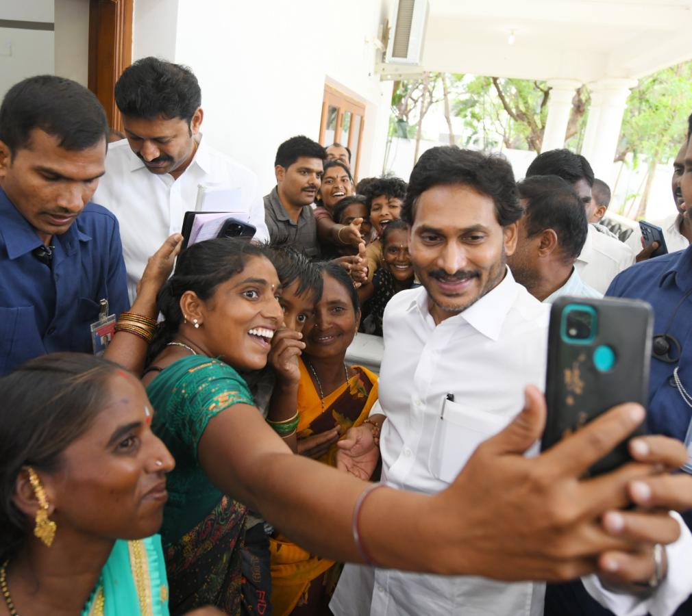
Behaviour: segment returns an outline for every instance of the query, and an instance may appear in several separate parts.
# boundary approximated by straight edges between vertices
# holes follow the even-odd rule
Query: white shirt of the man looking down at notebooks
[[[149,256],[168,236],[181,232],[185,212],[194,210],[197,204],[200,186],[241,189],[240,205],[247,212],[245,222],[257,229],[254,239],[269,239],[257,176],[226,154],[212,149],[204,139],[177,180],[170,174],[152,174],[126,139],[109,144],[106,174],[93,201],[111,210],[120,223],[130,301],[134,300]]]

